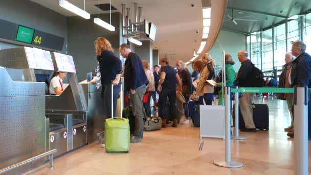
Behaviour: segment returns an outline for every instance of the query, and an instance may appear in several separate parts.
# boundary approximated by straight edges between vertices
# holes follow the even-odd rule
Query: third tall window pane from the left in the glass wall
[[[281,69],[285,64],[286,53],[286,25],[282,24],[274,28],[274,66]]]

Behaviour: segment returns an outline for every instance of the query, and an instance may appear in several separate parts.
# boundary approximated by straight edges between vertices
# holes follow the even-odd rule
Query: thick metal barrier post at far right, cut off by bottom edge
[[[308,174],[308,89],[294,89],[295,175]]]

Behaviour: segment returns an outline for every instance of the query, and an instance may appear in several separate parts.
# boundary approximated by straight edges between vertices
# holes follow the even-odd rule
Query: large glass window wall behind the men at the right
[[[247,50],[251,61],[257,68],[265,72],[266,75],[277,69],[279,75],[282,65],[285,64],[285,53],[291,52],[292,42],[299,38],[302,38],[306,44],[306,52],[311,54],[311,13],[305,14],[301,18],[284,21],[273,28],[262,31],[261,35],[260,32],[251,33],[250,36],[247,36]]]

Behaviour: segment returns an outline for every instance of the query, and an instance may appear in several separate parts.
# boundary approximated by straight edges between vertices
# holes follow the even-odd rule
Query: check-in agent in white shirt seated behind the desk
[[[54,72],[50,82],[50,95],[60,95],[64,91],[62,80],[65,77],[65,72]]]

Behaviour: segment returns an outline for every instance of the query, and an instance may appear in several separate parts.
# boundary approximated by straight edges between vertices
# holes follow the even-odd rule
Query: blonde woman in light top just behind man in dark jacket
[[[154,86],[153,73],[149,70],[150,69],[149,62],[146,60],[143,60],[142,63],[143,63],[143,67],[144,67],[146,76],[149,80],[149,83],[147,84],[147,90],[149,91],[148,101],[147,101],[147,103],[144,103],[144,107],[145,107],[145,112],[146,112],[147,117],[151,117],[150,99],[151,99],[152,95],[154,93],[156,93],[156,87]]]

